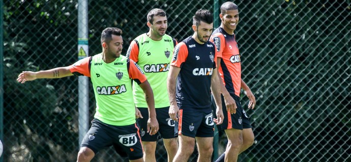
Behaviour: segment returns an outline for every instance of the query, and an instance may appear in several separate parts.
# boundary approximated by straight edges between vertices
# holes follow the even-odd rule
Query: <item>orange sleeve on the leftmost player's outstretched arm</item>
[[[90,77],[90,60],[91,57],[85,57],[73,65],[69,66],[70,71],[74,75],[84,75],[84,76],[89,76]]]

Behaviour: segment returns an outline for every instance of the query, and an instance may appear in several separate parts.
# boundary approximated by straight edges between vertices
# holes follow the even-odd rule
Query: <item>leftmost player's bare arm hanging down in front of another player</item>
[[[151,86],[148,80],[145,80],[145,82],[141,83],[139,86],[144,91],[145,100],[148,103],[148,110],[149,110],[148,133],[150,133],[150,135],[154,135],[157,133],[159,129],[158,121],[156,119],[154,93],[151,89]]]

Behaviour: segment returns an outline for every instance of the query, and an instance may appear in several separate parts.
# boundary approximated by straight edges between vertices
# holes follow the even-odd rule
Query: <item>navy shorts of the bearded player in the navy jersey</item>
[[[181,108],[178,119],[178,135],[188,137],[214,137],[214,121],[211,107]]]

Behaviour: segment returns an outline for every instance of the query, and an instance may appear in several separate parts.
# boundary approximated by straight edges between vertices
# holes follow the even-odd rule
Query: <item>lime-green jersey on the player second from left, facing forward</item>
[[[155,108],[169,106],[167,75],[171,54],[177,41],[165,34],[160,41],[154,41],[146,33],[136,37],[129,46],[126,57],[135,61],[148,78],[154,92]],[[142,89],[133,84],[136,107],[148,107]]]

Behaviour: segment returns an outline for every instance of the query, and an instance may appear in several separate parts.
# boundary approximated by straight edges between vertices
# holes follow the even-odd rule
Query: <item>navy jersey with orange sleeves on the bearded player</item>
[[[171,65],[180,67],[176,99],[179,108],[211,106],[211,77],[217,52],[212,42],[199,44],[189,36],[174,49]]]

